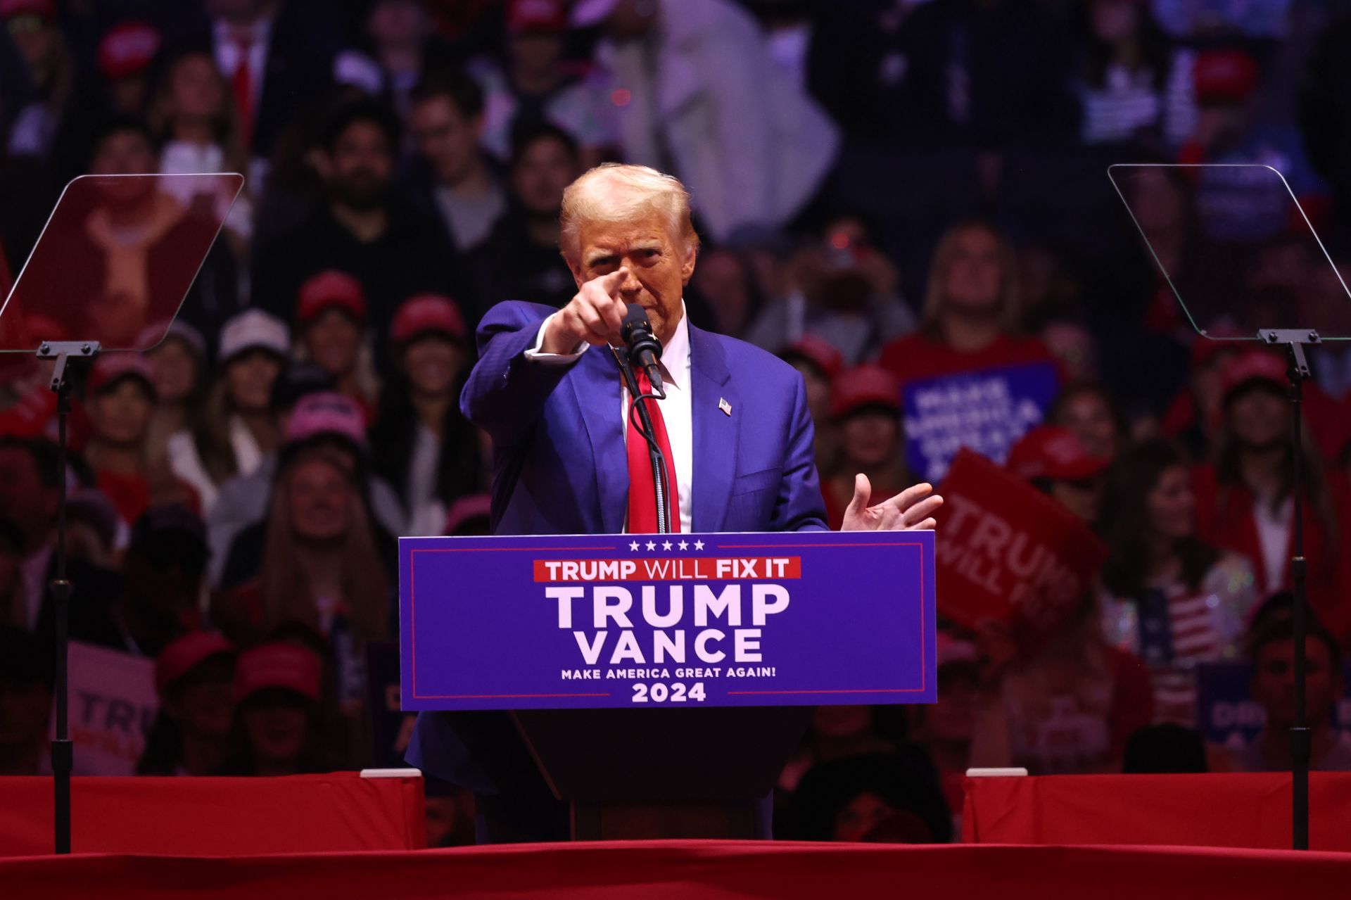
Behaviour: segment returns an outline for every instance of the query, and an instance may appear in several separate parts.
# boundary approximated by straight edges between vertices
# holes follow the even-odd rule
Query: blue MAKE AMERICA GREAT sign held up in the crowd
[[[1059,389],[1050,362],[908,381],[901,391],[905,462],[934,482],[961,447],[1002,465],[1009,447],[1046,418]]]

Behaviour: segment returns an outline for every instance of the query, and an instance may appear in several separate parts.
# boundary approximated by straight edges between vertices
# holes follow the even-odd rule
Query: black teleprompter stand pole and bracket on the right
[[[1290,586],[1294,592],[1294,609],[1290,624],[1294,631],[1294,726],[1290,728],[1290,778],[1293,797],[1293,845],[1296,850],[1309,849],[1309,755],[1310,734],[1308,709],[1305,708],[1306,666],[1304,658],[1308,562],[1304,558],[1304,485],[1301,468],[1304,464],[1304,435],[1301,403],[1304,382],[1310,377],[1309,361],[1304,346],[1321,343],[1319,332],[1308,328],[1266,328],[1258,336],[1270,345],[1285,345],[1290,358],[1290,430],[1294,439],[1294,461],[1292,465],[1292,492],[1294,495],[1294,557],[1290,559]]]

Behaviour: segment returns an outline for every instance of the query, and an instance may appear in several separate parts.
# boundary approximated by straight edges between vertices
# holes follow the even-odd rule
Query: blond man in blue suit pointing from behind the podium
[[[658,531],[655,466],[621,377],[630,304],[642,307],[662,345],[666,396],[647,411],[666,484],[676,486],[670,531],[825,530],[801,376],[685,316],[682,292],[698,255],[685,186],[646,166],[592,169],[563,193],[561,245],[577,293],[562,309],[493,307],[461,396],[465,415],[493,439],[494,534]],[[632,374],[650,392],[643,368]],[[932,528],[942,504],[928,484],[875,505],[870,493],[858,474],[843,530]],[[519,743],[509,727],[499,736]],[[551,836],[528,758],[500,749],[521,757],[520,784],[488,778],[444,716],[422,714],[408,761],[473,788],[493,839]]]

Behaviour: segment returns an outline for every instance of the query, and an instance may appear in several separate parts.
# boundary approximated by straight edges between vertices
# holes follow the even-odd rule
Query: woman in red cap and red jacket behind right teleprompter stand
[[[1215,462],[1194,473],[1198,534],[1247,557],[1263,595],[1292,585],[1294,439],[1286,391],[1286,364],[1277,354],[1252,349],[1229,359],[1221,373],[1223,431]],[[1351,508],[1351,489],[1339,473],[1324,472],[1313,446],[1306,434],[1300,466],[1308,599],[1346,643],[1351,553],[1339,511]]]

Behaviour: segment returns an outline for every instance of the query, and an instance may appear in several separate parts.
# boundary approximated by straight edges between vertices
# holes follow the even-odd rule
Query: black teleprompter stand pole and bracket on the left
[[[57,577],[51,581],[51,599],[57,632],[57,734],[51,739],[51,776],[55,785],[55,853],[70,853],[70,769],[74,747],[70,743],[66,682],[66,657],[70,645],[70,581],[66,580],[66,419],[70,415],[70,388],[77,368],[88,366],[99,355],[96,341],[50,341],[38,347],[39,359],[55,359],[51,392],[57,395]]]

